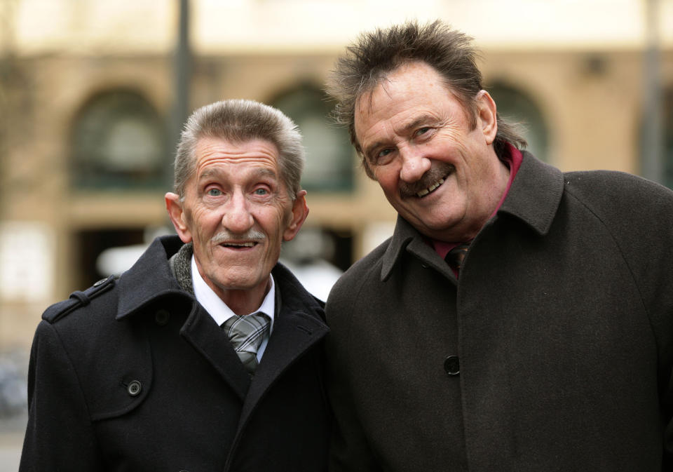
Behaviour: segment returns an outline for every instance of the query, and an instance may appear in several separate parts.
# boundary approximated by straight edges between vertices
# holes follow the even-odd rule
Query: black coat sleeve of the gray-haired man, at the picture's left
[[[54,325],[35,333],[19,472],[103,471],[77,372]]]

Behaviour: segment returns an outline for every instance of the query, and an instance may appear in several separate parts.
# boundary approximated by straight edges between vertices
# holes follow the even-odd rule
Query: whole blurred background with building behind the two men
[[[392,234],[322,89],[359,32],[436,18],[475,38],[533,154],[673,187],[673,0],[0,0],[0,471],[18,467],[43,309],[172,232],[196,107],[248,98],[299,124],[311,213],[282,257],[318,297]]]

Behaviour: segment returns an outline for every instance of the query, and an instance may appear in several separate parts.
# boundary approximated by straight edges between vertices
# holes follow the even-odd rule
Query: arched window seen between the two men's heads
[[[301,86],[280,95],[271,104],[297,123],[306,147],[302,187],[314,191],[353,188],[353,148],[348,133],[329,121],[332,106],[313,86]]]

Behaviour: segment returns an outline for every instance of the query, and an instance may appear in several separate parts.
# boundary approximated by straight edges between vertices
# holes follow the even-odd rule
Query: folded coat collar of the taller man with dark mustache
[[[552,226],[563,195],[563,174],[528,151],[522,151],[522,155],[521,167],[496,217],[503,214],[515,216],[538,234],[545,235]],[[434,250],[426,244],[423,235],[397,215],[393,237],[382,259],[382,281],[390,277],[404,250],[414,252],[428,264],[436,265],[437,269],[445,269],[445,264],[435,264],[438,258],[433,257]]]

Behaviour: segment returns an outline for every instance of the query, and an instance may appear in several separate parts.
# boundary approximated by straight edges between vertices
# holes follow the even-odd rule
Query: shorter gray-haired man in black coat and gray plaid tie
[[[277,109],[192,114],[177,236],[43,314],[21,472],[325,470],[323,304],[278,263],[308,214],[303,162]]]

